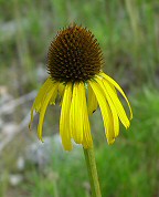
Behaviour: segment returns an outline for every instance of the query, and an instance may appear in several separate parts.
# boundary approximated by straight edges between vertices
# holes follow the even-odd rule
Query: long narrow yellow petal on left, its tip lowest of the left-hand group
[[[40,118],[39,118],[39,126],[38,126],[38,136],[42,141],[42,126],[44,122],[44,115],[46,112],[46,107],[50,103],[50,100],[52,95],[55,93],[57,90],[59,83],[52,83],[52,85],[49,89],[47,95],[45,96],[44,101],[41,103],[41,110],[40,110]]]

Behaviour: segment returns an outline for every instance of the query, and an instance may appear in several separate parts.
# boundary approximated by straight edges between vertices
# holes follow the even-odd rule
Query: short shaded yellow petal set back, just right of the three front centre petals
[[[97,100],[92,87],[88,85],[88,115],[92,115],[97,110]]]

